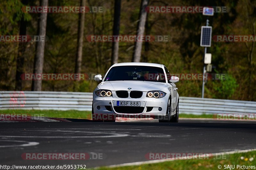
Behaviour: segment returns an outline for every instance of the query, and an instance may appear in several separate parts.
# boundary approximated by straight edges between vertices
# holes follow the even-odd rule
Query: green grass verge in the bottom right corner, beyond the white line
[[[166,161],[161,163],[154,164],[144,164],[140,166],[121,166],[115,168],[109,167],[100,167],[99,170],[144,170],[144,169],[157,169],[157,170],[190,170],[190,169],[199,169],[199,170],[216,170],[219,169],[218,165],[221,165],[224,169],[224,165],[235,165],[235,169],[243,169],[236,168],[236,165],[241,166],[256,166],[256,151],[246,152],[246,153],[235,153],[231,155],[222,156],[223,159],[189,159],[189,160],[174,160],[174,161]],[[244,160],[240,159],[244,157]],[[250,158],[253,158],[252,161],[249,161]]]

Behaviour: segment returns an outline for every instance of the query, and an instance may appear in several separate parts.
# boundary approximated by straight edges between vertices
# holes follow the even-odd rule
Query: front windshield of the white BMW
[[[165,82],[164,70],[150,66],[112,67],[104,81],[155,81]]]

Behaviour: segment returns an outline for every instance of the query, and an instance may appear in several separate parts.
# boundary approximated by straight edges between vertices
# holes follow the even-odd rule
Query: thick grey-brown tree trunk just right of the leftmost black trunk
[[[40,6],[48,6],[48,0],[41,0]],[[46,34],[47,13],[40,13],[40,17],[37,25],[37,35],[44,36]],[[45,41],[36,42],[36,55],[34,60],[34,72],[35,74],[42,74],[44,67],[44,45]],[[42,80],[36,80],[32,82],[32,91],[41,91]]]

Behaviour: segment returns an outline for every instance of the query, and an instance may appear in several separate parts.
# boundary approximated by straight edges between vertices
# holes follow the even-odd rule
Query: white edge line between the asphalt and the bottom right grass
[[[229,155],[229,154],[234,154],[234,153],[245,153],[245,152],[251,152],[251,151],[256,151],[256,149],[236,150],[236,151],[229,151],[229,152],[218,152],[218,153],[212,153],[211,155],[212,156]],[[113,167],[120,167],[120,166],[138,166],[138,165],[143,165],[143,164],[153,164],[153,163],[160,163],[160,162],[173,161],[173,160],[186,159],[186,158],[188,159],[188,156],[187,157],[176,157],[174,159],[157,159],[157,160],[147,160],[147,161],[140,161],[140,162],[116,164],[116,165],[110,165],[110,166],[107,166],[107,167],[113,168]],[[95,167],[95,168],[99,168],[99,167]]]

